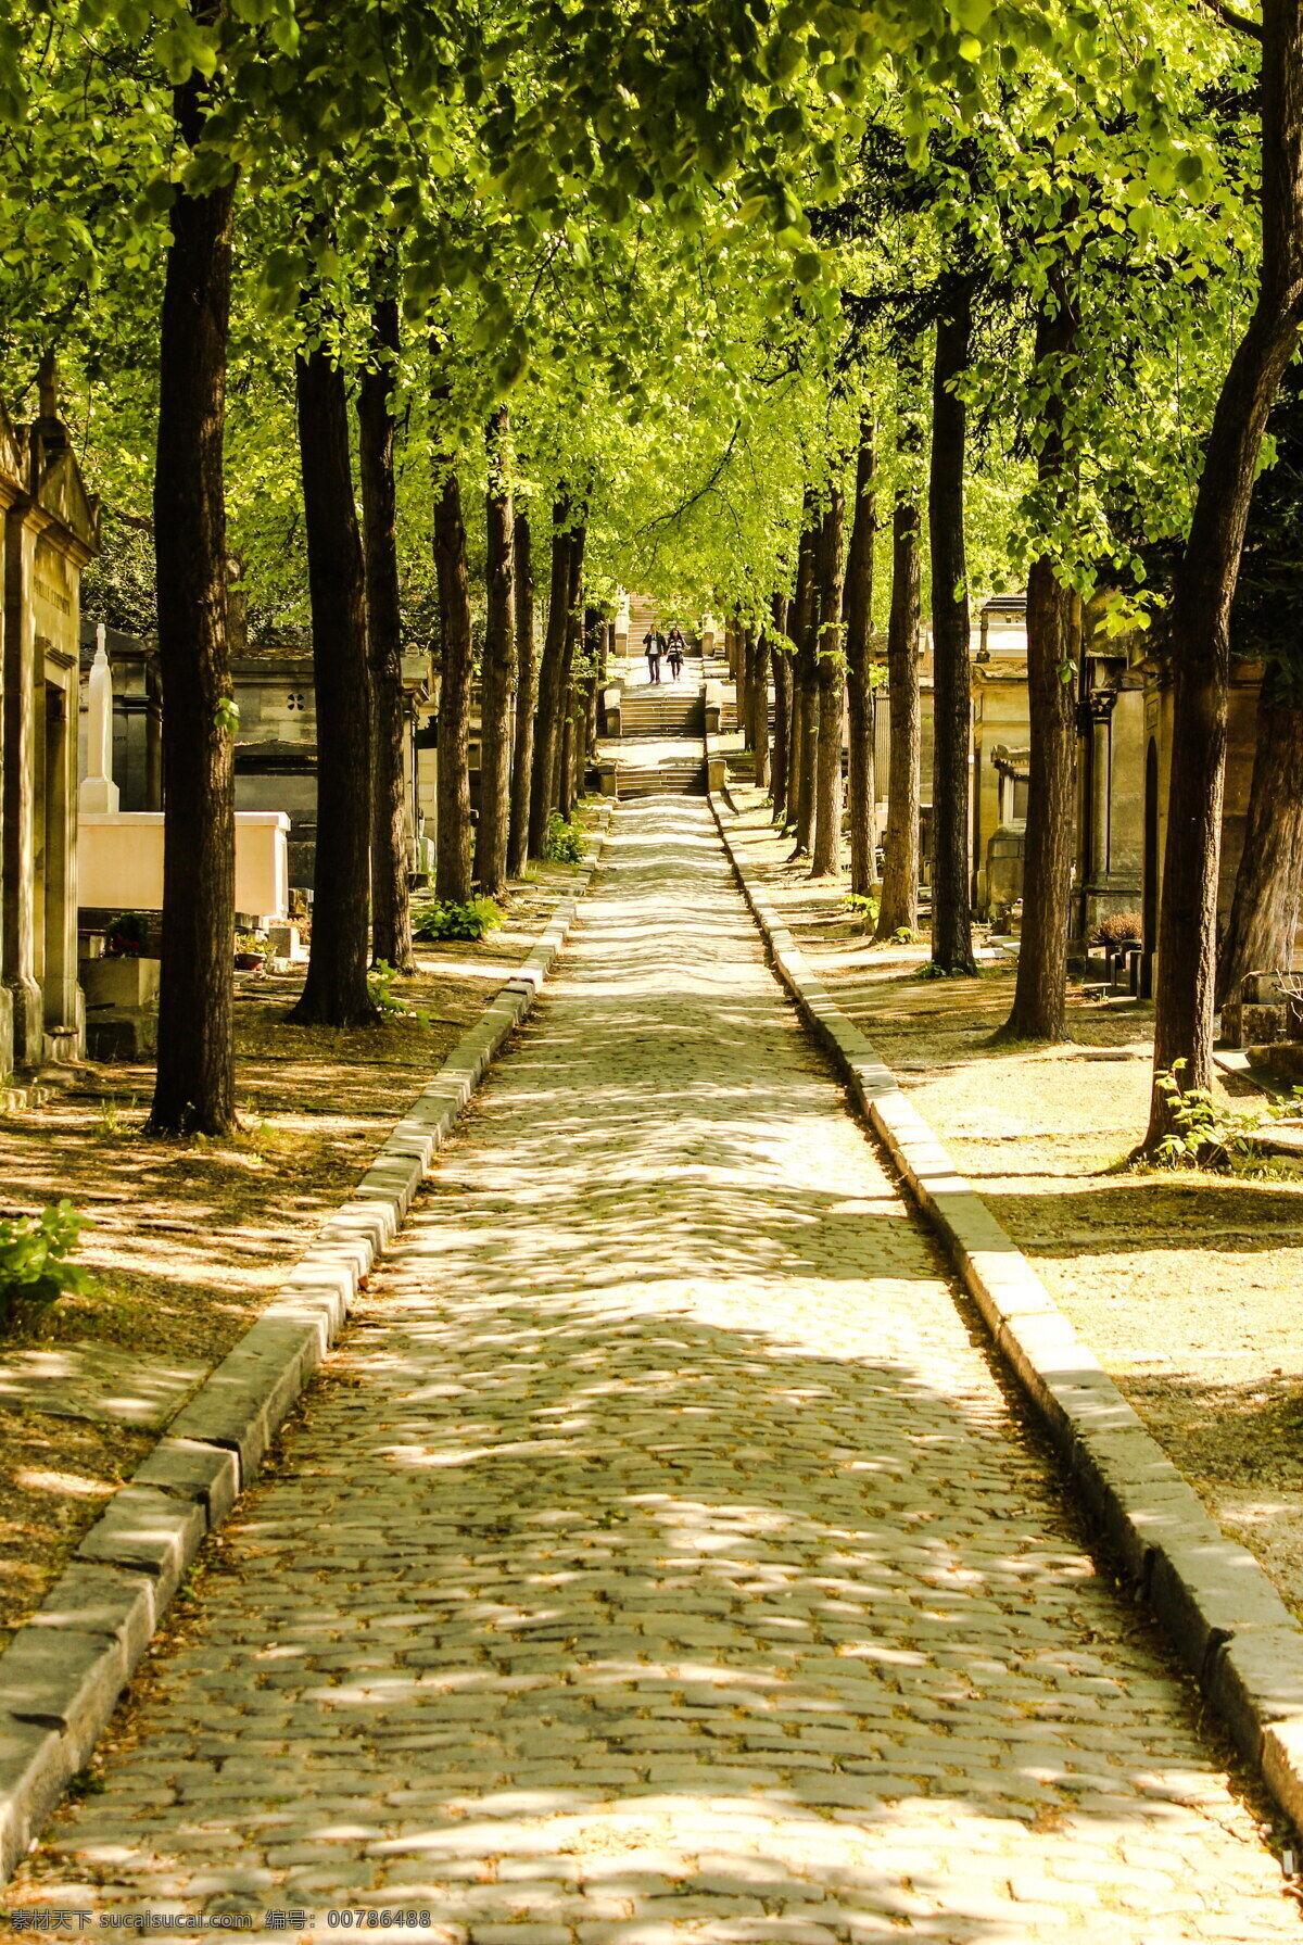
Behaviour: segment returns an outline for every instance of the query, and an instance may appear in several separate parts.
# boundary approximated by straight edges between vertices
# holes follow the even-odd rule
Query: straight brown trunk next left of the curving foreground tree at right
[[[1064,506],[1062,362],[1072,358],[1077,313],[1062,268],[1050,274],[1050,301],[1037,319],[1037,371],[1048,385],[1046,438],[1037,471]],[[1056,366],[1060,370],[1056,370]],[[1046,558],[1027,576],[1027,716],[1031,762],[1023,846],[1023,932],[1013,1009],[1002,1027],[1011,1041],[1062,1041],[1068,1031],[1068,916],[1075,821],[1077,724],[1074,669],[1081,659],[1081,603],[1054,580]]]

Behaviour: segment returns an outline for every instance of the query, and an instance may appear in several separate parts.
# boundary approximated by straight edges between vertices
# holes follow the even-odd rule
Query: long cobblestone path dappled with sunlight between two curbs
[[[1299,1937],[700,799],[618,811],[51,1846],[27,1904],[268,1937],[268,1906],[440,1945]]]

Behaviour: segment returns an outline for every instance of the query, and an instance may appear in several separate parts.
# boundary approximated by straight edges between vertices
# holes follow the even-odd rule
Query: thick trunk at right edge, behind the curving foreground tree
[[[1217,1006],[1247,972],[1287,972],[1303,893],[1303,694],[1272,663],[1258,692],[1245,848],[1217,955]]]

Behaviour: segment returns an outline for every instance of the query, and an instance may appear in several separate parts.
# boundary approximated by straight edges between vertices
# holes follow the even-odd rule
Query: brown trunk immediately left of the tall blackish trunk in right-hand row
[[[891,515],[891,617],[887,620],[887,696],[891,757],[887,768],[887,832],[879,939],[918,930],[918,796],[920,796],[920,560],[918,506],[897,494]]]

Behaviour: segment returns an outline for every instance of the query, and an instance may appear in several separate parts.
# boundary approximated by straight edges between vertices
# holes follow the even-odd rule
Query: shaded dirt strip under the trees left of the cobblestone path
[[[76,1253],[89,1288],[64,1295],[35,1330],[0,1336],[0,1367],[84,1344],[218,1363],[576,875],[578,866],[535,866],[511,887],[500,930],[418,945],[416,974],[393,984],[410,1013],[379,1027],[288,1023],[301,971],[237,978],[241,1128],[231,1138],[148,1140],[152,1066],[89,1064],[47,1107],[0,1116],[0,1214],[68,1196],[93,1221]],[[0,1397],[0,1647],[156,1437]]]

